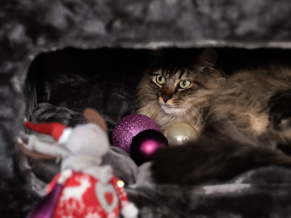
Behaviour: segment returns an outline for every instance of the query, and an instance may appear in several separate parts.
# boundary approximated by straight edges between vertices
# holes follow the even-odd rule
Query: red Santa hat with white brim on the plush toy
[[[67,128],[67,126],[56,122],[34,124],[30,121],[25,121],[24,125],[26,126],[26,128],[29,128],[32,131],[51,135],[59,143],[66,142],[72,132],[72,128]]]

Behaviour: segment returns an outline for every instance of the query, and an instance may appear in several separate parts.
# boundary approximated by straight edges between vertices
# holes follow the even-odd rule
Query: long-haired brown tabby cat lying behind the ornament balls
[[[213,49],[194,59],[157,57],[138,85],[137,112],[162,132],[175,122],[199,128],[197,142],[157,153],[151,170],[158,182],[193,184],[264,165],[291,166],[283,152],[291,144],[289,67],[226,75]]]

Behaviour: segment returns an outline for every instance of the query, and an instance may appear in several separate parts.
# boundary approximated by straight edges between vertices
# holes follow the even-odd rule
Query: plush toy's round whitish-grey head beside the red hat
[[[65,146],[75,156],[102,157],[109,150],[109,139],[100,126],[88,123],[74,127]]]

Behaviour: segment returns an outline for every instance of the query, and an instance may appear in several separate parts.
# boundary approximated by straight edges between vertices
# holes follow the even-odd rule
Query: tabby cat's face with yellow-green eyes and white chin
[[[213,72],[211,67],[216,60],[216,53],[210,53],[212,51],[215,52],[204,51],[188,62],[164,60],[148,70],[138,87],[138,98],[147,104],[144,105],[145,109],[160,107],[166,114],[173,115],[197,110],[198,104],[207,101],[207,90],[216,83],[216,76],[212,73],[217,72]],[[215,56],[215,60],[211,59],[210,62],[208,56],[211,55]]]

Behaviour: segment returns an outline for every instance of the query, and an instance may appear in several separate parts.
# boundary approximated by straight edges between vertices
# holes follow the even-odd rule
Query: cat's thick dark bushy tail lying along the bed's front
[[[291,167],[291,157],[279,149],[220,137],[161,149],[156,153],[151,171],[157,183],[195,184],[211,179],[226,180],[267,165]]]

